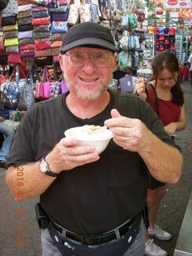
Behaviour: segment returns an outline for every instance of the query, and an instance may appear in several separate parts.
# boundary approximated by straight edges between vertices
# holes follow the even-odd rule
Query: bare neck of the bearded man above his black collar
[[[106,91],[94,101],[85,101],[70,93],[66,96],[66,106],[78,118],[92,118],[106,108],[110,102],[110,94]]]

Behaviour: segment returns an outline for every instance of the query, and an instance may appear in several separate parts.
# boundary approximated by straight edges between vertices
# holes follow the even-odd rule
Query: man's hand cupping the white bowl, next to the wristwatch
[[[50,170],[60,173],[62,170],[72,170],[90,162],[98,161],[99,156],[94,146],[79,145],[74,138],[62,138],[54,149],[46,155]]]

